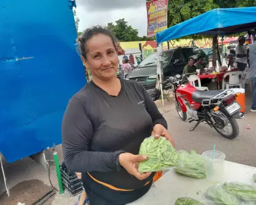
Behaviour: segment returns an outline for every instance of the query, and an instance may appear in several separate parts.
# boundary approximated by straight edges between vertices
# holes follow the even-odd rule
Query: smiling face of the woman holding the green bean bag
[[[118,71],[118,54],[111,38],[104,34],[94,35],[86,43],[85,66],[92,77],[101,80],[116,76]]]

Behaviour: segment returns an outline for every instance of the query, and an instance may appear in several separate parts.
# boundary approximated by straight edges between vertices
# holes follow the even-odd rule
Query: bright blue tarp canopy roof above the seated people
[[[256,28],[256,7],[214,9],[156,34],[157,43],[192,34],[227,35]]]

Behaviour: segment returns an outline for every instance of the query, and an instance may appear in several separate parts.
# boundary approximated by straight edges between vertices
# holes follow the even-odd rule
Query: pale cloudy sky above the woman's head
[[[147,16],[145,0],[77,0],[79,31],[96,24],[107,25],[124,18],[130,26],[146,35]]]

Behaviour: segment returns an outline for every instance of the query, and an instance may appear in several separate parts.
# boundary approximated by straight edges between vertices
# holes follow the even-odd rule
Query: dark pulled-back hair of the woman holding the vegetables
[[[88,48],[86,46],[86,43],[88,40],[90,40],[94,35],[97,34],[103,34],[107,35],[111,38],[111,41],[113,42],[113,45],[115,46],[118,44],[118,40],[116,37],[112,34],[112,32],[105,26],[93,26],[89,29],[86,29],[82,35],[78,37],[78,45],[80,47],[80,54],[86,59],[86,52],[88,51]]]

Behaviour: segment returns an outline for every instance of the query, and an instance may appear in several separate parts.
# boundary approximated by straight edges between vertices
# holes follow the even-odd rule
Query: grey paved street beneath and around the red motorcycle
[[[160,108],[162,112],[167,112],[164,116],[168,121],[168,130],[176,142],[176,148],[187,151],[195,149],[198,153],[203,153],[203,151],[212,149],[215,144],[217,150],[226,154],[227,160],[256,167],[256,113],[251,113],[249,110],[251,93],[246,94],[246,115],[243,120],[237,120],[240,134],[235,140],[221,137],[207,124],[200,124],[195,131],[190,132],[190,127],[195,123],[189,124],[188,121],[181,121],[173,104]],[[246,129],[247,124],[250,124],[250,129]]]

